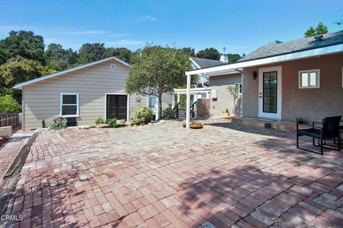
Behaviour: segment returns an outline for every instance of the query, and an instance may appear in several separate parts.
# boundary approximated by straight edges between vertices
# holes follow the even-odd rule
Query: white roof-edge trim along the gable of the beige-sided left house
[[[76,71],[76,70],[79,70],[79,69],[82,69],[82,68],[86,68],[86,67],[89,67],[89,66],[96,65],[98,63],[104,63],[104,62],[110,61],[110,60],[115,60],[115,61],[118,61],[119,63],[123,64],[124,66],[131,67],[131,65],[129,63],[125,63],[124,61],[121,61],[119,58],[109,57],[109,58],[104,58],[104,59],[101,59],[101,60],[98,60],[98,61],[95,61],[95,62],[92,62],[92,63],[87,63],[87,64],[84,64],[82,66],[76,66],[76,67],[70,68],[70,69],[68,69],[66,71],[61,71],[61,72],[49,74],[47,76],[43,76],[41,78],[36,78],[36,79],[30,80],[30,81],[25,81],[24,83],[16,84],[16,86],[13,86],[13,88],[17,88],[17,89],[21,90],[23,86],[27,86],[27,85],[30,85],[32,83],[43,81],[43,80],[48,79],[48,78],[54,78],[54,77],[60,76],[60,75],[62,75],[64,73],[69,73],[69,72]]]

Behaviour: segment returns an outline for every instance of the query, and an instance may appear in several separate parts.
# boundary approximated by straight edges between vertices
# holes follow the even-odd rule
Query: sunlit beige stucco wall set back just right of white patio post
[[[209,88],[217,90],[217,100],[210,99],[211,115],[225,115],[224,112],[228,109],[230,115],[234,116],[234,98],[227,91],[227,86],[241,83],[241,81],[242,76],[240,73],[209,77]],[[242,90],[244,90],[243,87]]]

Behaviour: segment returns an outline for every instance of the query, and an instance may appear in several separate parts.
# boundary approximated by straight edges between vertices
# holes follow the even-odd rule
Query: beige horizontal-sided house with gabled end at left
[[[76,118],[79,125],[93,125],[96,118],[129,121],[139,105],[155,108],[155,96],[129,95],[125,92],[130,65],[119,58],[104,58],[66,71],[19,83],[22,90],[24,131],[49,125],[54,118]],[[163,108],[172,103],[164,95]]]

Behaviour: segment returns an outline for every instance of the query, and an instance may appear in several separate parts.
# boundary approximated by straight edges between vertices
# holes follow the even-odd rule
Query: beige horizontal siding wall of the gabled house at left
[[[111,63],[116,64],[116,69],[110,68]],[[24,86],[23,130],[41,128],[42,120],[49,125],[54,118],[59,117],[62,92],[79,93],[79,125],[93,125],[98,116],[105,119],[105,94],[125,93],[128,74],[127,66],[111,60]],[[137,103],[137,97],[129,96],[130,118],[133,117],[135,108],[146,105],[145,96],[139,96],[140,103]],[[164,102],[171,103],[171,100],[170,97],[170,101],[165,99]]]

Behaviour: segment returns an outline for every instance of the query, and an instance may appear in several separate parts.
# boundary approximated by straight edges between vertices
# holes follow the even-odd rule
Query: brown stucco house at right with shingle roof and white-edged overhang
[[[204,73],[211,78],[211,74],[239,71],[243,117],[292,121],[304,118],[311,122],[343,114],[342,70],[343,31],[337,31],[275,41],[235,63],[187,71],[186,75],[190,78]]]

